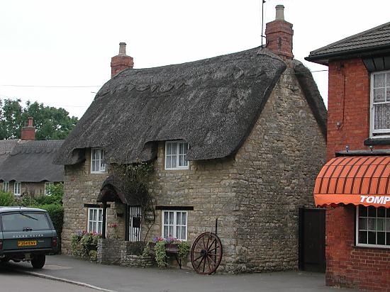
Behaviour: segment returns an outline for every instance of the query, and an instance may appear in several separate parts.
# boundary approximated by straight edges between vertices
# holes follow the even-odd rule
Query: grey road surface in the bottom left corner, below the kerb
[[[1,292],[96,292],[95,289],[29,276],[0,265]]]

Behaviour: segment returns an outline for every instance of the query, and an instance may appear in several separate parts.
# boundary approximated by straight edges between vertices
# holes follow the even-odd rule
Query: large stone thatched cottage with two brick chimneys
[[[65,165],[62,252],[78,230],[192,242],[218,218],[220,269],[297,268],[298,209],[313,206],[326,110],[311,73],[293,59],[292,25],[278,9],[267,47],[132,69],[121,43],[113,77],[55,160]],[[154,169],[147,210],[116,175],[139,162]]]

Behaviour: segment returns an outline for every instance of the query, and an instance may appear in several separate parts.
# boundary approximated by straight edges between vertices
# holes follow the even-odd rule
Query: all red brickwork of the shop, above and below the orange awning
[[[368,150],[370,75],[362,60],[329,63],[327,160],[335,152]],[[340,127],[337,123],[340,123]],[[389,149],[389,145],[375,146]],[[355,207],[326,210],[326,284],[390,291],[390,249],[355,247]]]

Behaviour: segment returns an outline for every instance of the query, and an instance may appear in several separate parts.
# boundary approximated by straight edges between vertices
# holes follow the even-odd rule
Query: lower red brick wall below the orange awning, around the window
[[[326,210],[326,285],[390,291],[390,249],[355,247],[355,206]]]

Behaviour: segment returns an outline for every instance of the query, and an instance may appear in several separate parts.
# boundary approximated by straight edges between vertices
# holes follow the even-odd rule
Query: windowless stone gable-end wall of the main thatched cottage
[[[325,138],[287,68],[245,144],[238,165],[233,271],[298,268],[299,207],[314,207]]]

